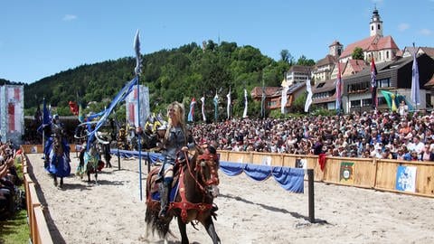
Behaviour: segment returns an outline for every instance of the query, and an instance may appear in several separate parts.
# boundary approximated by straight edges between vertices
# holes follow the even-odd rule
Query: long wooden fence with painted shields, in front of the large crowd
[[[222,161],[233,163],[296,167],[297,163],[302,162],[306,164],[306,168],[314,169],[314,179],[316,182],[344,184],[379,191],[434,197],[434,162],[325,157],[325,168],[322,171],[318,164],[317,155],[232,151],[219,151],[219,153]],[[414,192],[395,190],[399,166],[410,166],[416,169]],[[347,170],[347,172],[351,171],[351,177],[345,179],[342,174],[343,170]]]

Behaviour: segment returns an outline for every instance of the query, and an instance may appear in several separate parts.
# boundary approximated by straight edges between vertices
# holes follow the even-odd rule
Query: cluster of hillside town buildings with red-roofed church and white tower
[[[335,109],[336,80],[341,71],[342,105],[344,113],[367,111],[373,108],[371,92],[371,61],[376,64],[378,109],[389,109],[383,91],[401,95],[414,109],[432,108],[434,94],[434,48],[406,47],[400,50],[392,36],[383,36],[383,22],[378,10],[373,10],[369,23],[370,36],[344,45],[338,41],[329,45],[329,53],[316,62],[315,67],[293,66],[285,78],[289,85],[289,108],[298,96],[306,92],[306,80],[312,77],[313,102],[317,108]],[[355,48],[363,51],[363,60],[354,60]],[[412,54],[416,52],[419,67],[420,105],[410,104]],[[283,88],[266,88],[266,108],[280,108]],[[262,89],[251,92],[253,99],[262,98]],[[288,109],[286,109],[288,110]]]

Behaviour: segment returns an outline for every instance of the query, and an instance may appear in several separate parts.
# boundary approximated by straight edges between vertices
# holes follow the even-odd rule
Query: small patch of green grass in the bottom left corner
[[[17,211],[14,218],[0,221],[0,243],[22,244],[29,243],[30,230],[27,225],[27,211]]]

